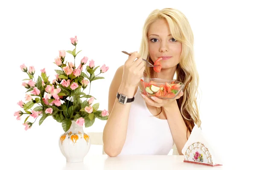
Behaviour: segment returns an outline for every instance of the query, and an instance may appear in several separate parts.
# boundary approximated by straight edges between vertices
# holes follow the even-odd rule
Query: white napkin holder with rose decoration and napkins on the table
[[[211,167],[222,165],[215,163],[216,160],[213,150],[197,125],[193,128],[189,140],[182,149],[182,153],[185,156],[183,162],[186,163],[201,164]]]

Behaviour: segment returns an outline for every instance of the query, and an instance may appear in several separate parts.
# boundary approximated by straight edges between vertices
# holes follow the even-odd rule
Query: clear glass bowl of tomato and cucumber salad
[[[140,80],[140,90],[145,96],[156,96],[160,99],[174,99],[184,88],[177,80],[146,78]]]

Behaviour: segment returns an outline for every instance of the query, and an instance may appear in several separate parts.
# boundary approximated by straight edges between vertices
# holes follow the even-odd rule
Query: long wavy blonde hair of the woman
[[[185,87],[183,89],[183,96],[180,97],[180,99],[177,99],[177,104],[186,124],[187,130],[191,133],[195,124],[198,125],[198,127],[201,126],[197,104],[197,95],[199,95],[199,76],[194,58],[193,32],[189,25],[189,21],[179,10],[174,8],[163,8],[162,10],[155,9],[152,11],[145,20],[145,24],[143,26],[142,41],[140,45],[140,56],[144,59],[147,59],[152,64],[154,63],[151,60],[148,51],[147,33],[151,24],[158,19],[165,19],[169,24],[172,37],[182,43],[180,63],[177,65],[175,74],[177,81],[183,82]],[[147,77],[153,78],[152,75],[154,70],[150,67],[145,67],[145,73],[147,74]]]

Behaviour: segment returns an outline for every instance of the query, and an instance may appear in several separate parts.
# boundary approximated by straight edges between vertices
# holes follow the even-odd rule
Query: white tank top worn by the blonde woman
[[[125,144],[119,155],[168,155],[174,145],[168,121],[151,114],[139,87],[134,98]]]

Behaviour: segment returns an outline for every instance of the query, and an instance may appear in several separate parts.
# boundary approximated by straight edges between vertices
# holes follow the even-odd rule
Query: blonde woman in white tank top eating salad
[[[187,142],[192,128],[200,127],[197,105],[198,72],[193,33],[187,18],[173,8],[156,9],[145,20],[140,52],[133,52],[119,67],[109,88],[109,119],[103,131],[108,156],[123,154],[167,155]],[[160,61],[158,73],[143,59]],[[137,59],[138,58],[138,59]],[[174,79],[185,87],[175,99],[148,98],[138,87],[142,77]],[[123,100],[128,101],[124,103]]]

